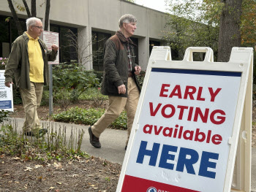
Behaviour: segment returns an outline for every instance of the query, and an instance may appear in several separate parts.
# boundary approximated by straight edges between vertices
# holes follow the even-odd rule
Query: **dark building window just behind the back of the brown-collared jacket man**
[[[98,31],[91,31],[93,39],[92,53],[93,53],[93,67],[94,70],[102,72],[103,69],[103,48],[105,42],[111,37],[111,34],[106,34]]]

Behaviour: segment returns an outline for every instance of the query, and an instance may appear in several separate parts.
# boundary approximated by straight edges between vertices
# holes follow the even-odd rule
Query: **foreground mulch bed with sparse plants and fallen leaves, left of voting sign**
[[[0,191],[116,191],[121,165],[81,151],[83,130],[46,127],[37,139],[1,125]]]

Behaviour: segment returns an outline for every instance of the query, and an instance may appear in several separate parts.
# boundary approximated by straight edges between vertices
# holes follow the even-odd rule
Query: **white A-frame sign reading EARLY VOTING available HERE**
[[[250,192],[253,50],[213,58],[153,48],[116,191]]]

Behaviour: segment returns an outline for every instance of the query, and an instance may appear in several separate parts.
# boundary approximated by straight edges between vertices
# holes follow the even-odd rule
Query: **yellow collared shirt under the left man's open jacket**
[[[37,39],[29,37],[28,53],[29,53],[29,78],[31,82],[44,82],[44,61],[42,59],[42,50]]]

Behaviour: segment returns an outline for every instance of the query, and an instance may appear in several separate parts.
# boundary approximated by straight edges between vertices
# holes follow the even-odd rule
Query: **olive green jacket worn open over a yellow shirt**
[[[45,43],[39,39],[39,44],[42,49],[42,58],[44,61],[44,83],[49,83],[48,61],[54,61],[57,53],[49,51]],[[15,75],[17,88],[31,89],[29,78],[29,54],[28,54],[29,37],[24,32],[12,43],[12,51],[10,53],[7,66],[5,67],[4,77],[5,82],[12,82],[12,77]]]

